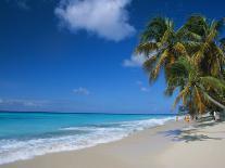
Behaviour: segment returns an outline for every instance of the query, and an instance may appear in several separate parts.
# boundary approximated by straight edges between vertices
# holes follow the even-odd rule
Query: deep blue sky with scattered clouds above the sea
[[[171,113],[134,48],[153,16],[224,16],[221,0],[1,0],[0,109]]]

